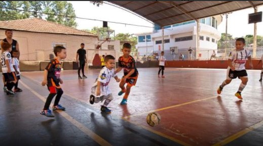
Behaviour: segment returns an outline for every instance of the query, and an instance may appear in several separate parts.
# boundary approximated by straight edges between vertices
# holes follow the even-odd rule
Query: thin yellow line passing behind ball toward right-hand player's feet
[[[131,116],[126,116],[124,118],[129,118],[129,117],[134,117],[134,116],[140,116],[140,115],[144,115],[144,114],[148,114],[148,113],[152,113],[152,112],[158,112],[158,111],[163,111],[163,110],[167,110],[167,109],[171,109],[171,108],[175,108],[175,107],[180,107],[180,106],[184,106],[184,105],[189,105],[189,104],[193,104],[193,103],[197,103],[197,102],[202,102],[202,101],[206,101],[206,100],[210,100],[210,99],[214,99],[217,98],[217,96],[212,96],[210,98],[206,98],[206,99],[201,99],[201,100],[195,100],[192,102],[187,102],[187,103],[183,103],[183,104],[179,104],[179,105],[174,105],[174,106],[170,106],[170,107],[165,107],[165,108],[161,108],[161,109],[157,109],[157,110],[152,110],[152,111],[148,111],[148,112],[143,112],[137,115],[131,115]]]

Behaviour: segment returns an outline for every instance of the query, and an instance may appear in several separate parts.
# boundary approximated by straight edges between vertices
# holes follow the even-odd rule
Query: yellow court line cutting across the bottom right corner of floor
[[[250,132],[250,131],[252,131],[252,130],[254,130],[254,129],[256,129],[256,128],[262,126],[262,125],[263,125],[263,120],[258,122],[258,123],[256,123],[256,124],[254,124],[254,125],[252,125],[252,126],[250,126],[250,127],[248,127],[248,128],[245,128],[244,130],[241,130],[241,131],[231,135],[230,137],[228,137],[228,138],[226,138],[226,139],[224,139],[224,140],[222,140],[220,142],[217,142],[217,143],[213,144],[212,146],[225,145],[225,144],[227,144],[227,143],[229,143],[231,141],[234,141],[235,139],[245,135],[246,133],[248,133],[248,132]]]

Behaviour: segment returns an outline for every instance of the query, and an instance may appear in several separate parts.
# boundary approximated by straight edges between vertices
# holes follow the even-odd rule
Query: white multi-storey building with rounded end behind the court
[[[200,19],[200,41],[199,41],[199,59],[210,58],[213,50],[217,52],[217,41],[221,38],[217,26],[221,23],[221,15]],[[164,52],[168,60],[179,59],[180,53],[184,58],[189,58],[189,48],[194,50],[192,58],[195,59],[197,47],[197,23],[196,21],[187,21],[164,27]],[[162,29],[155,26],[153,32],[136,34],[138,36],[139,56],[152,56],[162,50]],[[170,49],[174,48],[174,53]]]

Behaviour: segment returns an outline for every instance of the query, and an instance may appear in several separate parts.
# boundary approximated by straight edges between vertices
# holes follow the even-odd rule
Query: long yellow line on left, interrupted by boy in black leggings
[[[28,87],[25,83],[23,83],[22,81],[20,81],[20,83],[26,87],[29,91],[31,91],[33,94],[35,94],[37,96],[37,98],[39,98],[40,100],[42,100],[43,102],[46,102],[46,99],[41,96],[39,93],[37,93],[36,91],[32,90],[30,87]],[[69,116],[67,113],[65,112],[60,112],[60,115],[63,116],[66,120],[68,120],[71,124],[75,125],[76,127],[78,127],[82,132],[84,132],[85,134],[87,134],[89,137],[91,137],[94,141],[96,141],[97,143],[99,143],[100,145],[105,145],[105,146],[112,146],[109,142],[107,142],[106,140],[104,140],[103,138],[101,138],[99,135],[97,135],[96,133],[94,133],[92,130],[90,130],[89,128],[87,128],[85,125],[81,124],[80,122],[78,122],[77,120],[75,120],[74,118],[72,118],[71,116]]]

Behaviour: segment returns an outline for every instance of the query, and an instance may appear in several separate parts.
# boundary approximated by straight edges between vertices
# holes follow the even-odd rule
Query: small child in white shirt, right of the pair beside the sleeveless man
[[[13,55],[13,67],[14,67],[14,69],[16,71],[16,78],[17,78],[17,82],[15,84],[15,90],[14,90],[15,92],[21,92],[22,91],[22,89],[20,89],[18,87],[18,81],[20,80],[19,60],[17,59],[18,55],[19,55],[18,53],[19,52],[17,50],[14,50],[12,52],[12,55]]]

